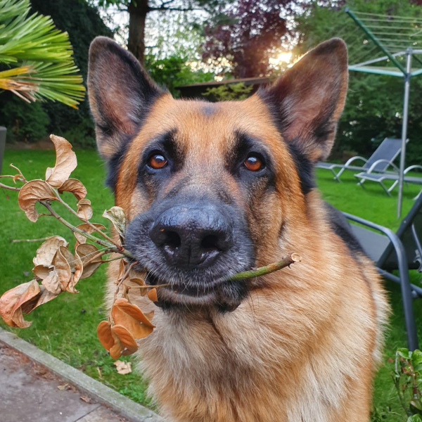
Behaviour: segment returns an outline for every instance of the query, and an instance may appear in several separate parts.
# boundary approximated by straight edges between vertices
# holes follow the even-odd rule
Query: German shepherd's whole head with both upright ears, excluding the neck
[[[347,91],[331,39],[245,101],[175,100],[104,37],[89,51],[89,101],[108,184],[130,221],[125,247],[160,304],[235,309],[250,288],[224,281],[280,257],[305,217],[312,167],[328,156]]]

